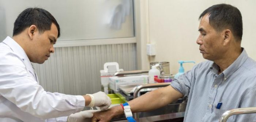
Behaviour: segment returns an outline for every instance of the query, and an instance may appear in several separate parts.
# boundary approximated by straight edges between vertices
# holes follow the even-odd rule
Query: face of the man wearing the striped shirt
[[[199,50],[203,58],[211,61],[220,59],[223,51],[221,33],[215,31],[210,25],[208,14],[200,20],[199,32],[196,43],[200,45]]]

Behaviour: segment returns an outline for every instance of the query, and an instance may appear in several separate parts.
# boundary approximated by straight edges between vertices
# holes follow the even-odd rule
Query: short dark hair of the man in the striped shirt
[[[209,23],[217,31],[230,29],[234,36],[242,40],[243,24],[241,12],[234,6],[228,4],[213,5],[199,16],[199,20],[209,14]]]

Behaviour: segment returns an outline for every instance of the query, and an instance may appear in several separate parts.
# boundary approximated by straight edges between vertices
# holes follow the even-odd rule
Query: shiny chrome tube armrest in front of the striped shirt
[[[231,109],[222,114],[221,119],[219,119],[219,122],[226,122],[231,115],[251,114],[251,113],[256,113],[256,107]]]

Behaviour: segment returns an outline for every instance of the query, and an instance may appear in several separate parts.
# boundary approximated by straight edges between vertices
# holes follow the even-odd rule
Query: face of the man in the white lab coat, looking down
[[[51,25],[51,29],[42,33],[36,33],[33,40],[33,53],[29,60],[34,63],[42,64],[48,60],[50,53],[54,53],[53,44],[55,44],[58,36],[58,29],[55,24]]]

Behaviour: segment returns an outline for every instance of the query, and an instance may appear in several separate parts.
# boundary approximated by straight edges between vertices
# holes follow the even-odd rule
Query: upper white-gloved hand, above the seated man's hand
[[[91,97],[89,107],[97,106],[101,110],[106,110],[111,105],[111,99],[104,92],[99,91],[94,94],[86,94]]]

